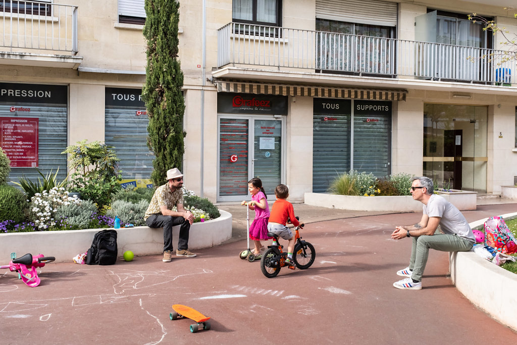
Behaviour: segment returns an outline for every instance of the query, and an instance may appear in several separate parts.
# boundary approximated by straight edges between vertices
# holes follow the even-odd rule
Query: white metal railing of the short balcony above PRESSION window
[[[0,0],[0,47],[78,52],[78,6]]]

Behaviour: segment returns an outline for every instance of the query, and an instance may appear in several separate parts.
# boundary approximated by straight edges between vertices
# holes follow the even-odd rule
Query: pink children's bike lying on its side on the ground
[[[45,257],[43,254],[33,257],[31,253],[27,253],[21,258],[16,258],[16,253],[11,253],[11,259],[12,261],[8,265],[0,266],[0,268],[9,268],[11,272],[18,272],[18,279],[22,279],[31,288],[37,287],[40,283],[36,268],[56,260],[54,257]]]

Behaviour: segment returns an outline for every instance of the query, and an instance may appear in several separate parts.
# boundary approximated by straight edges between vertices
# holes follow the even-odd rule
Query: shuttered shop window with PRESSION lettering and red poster
[[[0,83],[0,146],[10,159],[8,181],[67,176],[68,86]]]

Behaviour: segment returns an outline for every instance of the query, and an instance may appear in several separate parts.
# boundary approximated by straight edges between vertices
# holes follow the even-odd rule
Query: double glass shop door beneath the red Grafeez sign
[[[275,187],[285,181],[284,127],[283,117],[219,116],[218,201],[249,200],[253,177],[275,200]]]

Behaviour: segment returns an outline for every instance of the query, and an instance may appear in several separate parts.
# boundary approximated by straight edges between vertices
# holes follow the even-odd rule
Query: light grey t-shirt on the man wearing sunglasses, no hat
[[[423,205],[423,214],[429,217],[441,217],[440,227],[446,234],[458,235],[472,243],[476,243],[474,233],[458,207],[445,198],[433,194],[427,205]]]

